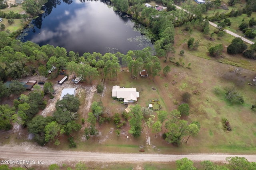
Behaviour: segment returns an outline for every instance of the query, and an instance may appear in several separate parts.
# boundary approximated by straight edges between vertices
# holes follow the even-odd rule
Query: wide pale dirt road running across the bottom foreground
[[[256,160],[256,155],[231,154],[120,154],[99,152],[56,151],[45,147],[31,145],[0,146],[0,160],[34,160],[44,161],[44,165],[62,164],[66,162],[95,161],[95,162],[173,162],[177,159],[188,158],[194,162],[210,160],[225,162],[229,156],[245,157],[248,161]]]

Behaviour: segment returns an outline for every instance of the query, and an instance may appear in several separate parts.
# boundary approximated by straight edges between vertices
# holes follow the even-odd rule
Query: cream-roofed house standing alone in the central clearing
[[[128,104],[137,101],[140,94],[136,91],[136,88],[120,88],[120,86],[115,85],[112,87],[112,97],[123,100],[124,104]]]

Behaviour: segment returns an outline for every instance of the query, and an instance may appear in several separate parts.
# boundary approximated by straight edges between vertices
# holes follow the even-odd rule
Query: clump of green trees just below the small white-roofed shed
[[[47,142],[60,144],[59,136],[70,135],[73,130],[77,131],[82,127],[76,123],[79,105],[80,101],[77,97],[65,95],[61,101],[56,102],[53,116],[37,115],[28,122],[28,131],[35,135],[34,140],[38,144],[44,145]]]

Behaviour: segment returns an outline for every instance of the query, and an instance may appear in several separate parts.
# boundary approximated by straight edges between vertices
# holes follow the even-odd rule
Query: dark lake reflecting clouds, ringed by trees
[[[81,0],[82,1],[82,0]],[[152,43],[134,29],[134,22],[121,17],[112,7],[101,1],[49,0],[44,14],[32,20],[18,38],[40,46],[50,44],[65,47],[67,51],[107,52],[138,50]]]

